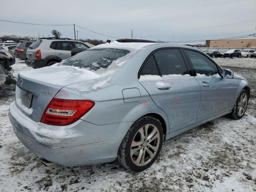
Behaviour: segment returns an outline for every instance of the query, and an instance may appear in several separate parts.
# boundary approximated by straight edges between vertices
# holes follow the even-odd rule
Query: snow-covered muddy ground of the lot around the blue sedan
[[[256,68],[256,59],[220,59],[221,66]],[[236,60],[239,60],[236,62]],[[234,67],[234,66],[233,66]],[[242,68],[241,68],[242,67]],[[32,70],[16,60],[14,75]],[[243,69],[244,70],[244,69]],[[256,79],[254,72],[250,80]],[[239,73],[239,70],[238,70]],[[244,76],[248,72],[243,73]],[[14,96],[0,98],[0,192],[10,191],[256,191],[256,96],[240,120],[226,116],[164,143],[160,157],[141,173],[117,162],[45,167],[16,138],[8,119]]]

